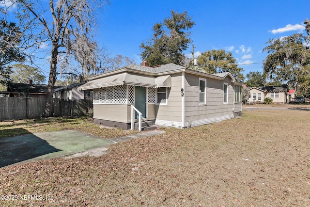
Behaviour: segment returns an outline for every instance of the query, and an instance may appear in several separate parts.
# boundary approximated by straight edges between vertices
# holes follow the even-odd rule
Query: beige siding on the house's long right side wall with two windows
[[[224,104],[224,82],[228,84],[227,104]],[[199,105],[199,76],[185,75],[185,125],[188,127],[192,126],[194,121],[201,120],[201,123],[205,124],[217,121],[217,118],[233,118],[234,91],[231,79],[206,78],[206,86],[206,105]]]

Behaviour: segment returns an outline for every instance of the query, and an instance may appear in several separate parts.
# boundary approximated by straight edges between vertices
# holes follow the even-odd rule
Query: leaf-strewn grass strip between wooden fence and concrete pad
[[[136,130],[100,128],[98,125],[93,124],[92,119],[86,117],[50,117],[0,122],[0,138],[66,129],[80,130],[102,138],[137,133]]]

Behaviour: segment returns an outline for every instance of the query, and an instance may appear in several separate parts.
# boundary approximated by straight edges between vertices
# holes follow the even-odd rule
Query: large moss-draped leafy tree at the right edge
[[[310,50],[305,46],[309,37],[293,34],[278,39],[270,39],[268,55],[263,63],[263,70],[270,80],[287,82],[297,92],[310,89]]]

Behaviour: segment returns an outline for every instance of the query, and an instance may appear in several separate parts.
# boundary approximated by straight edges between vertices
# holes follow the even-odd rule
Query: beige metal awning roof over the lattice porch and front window
[[[143,87],[171,87],[171,76],[147,76],[134,74],[129,72],[114,74],[102,77],[100,79],[91,80],[84,85],[78,87],[79,91],[93,90],[94,88],[103,88],[115,85],[134,85]]]

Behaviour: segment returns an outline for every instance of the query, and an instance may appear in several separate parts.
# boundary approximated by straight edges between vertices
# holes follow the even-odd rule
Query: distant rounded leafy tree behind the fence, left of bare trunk
[[[32,80],[33,84],[43,84],[45,81],[45,76],[36,67],[26,64],[14,64],[12,70],[11,78],[13,82],[29,83],[29,80]]]

